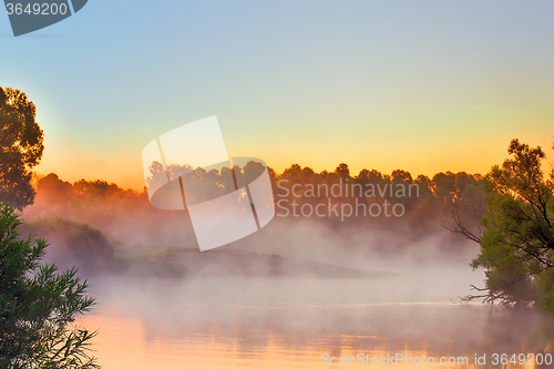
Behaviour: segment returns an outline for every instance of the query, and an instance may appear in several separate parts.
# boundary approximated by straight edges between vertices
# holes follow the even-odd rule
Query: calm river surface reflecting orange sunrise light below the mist
[[[475,368],[475,355],[490,365],[495,352],[552,349],[551,320],[458,304],[455,289],[441,288],[458,285],[456,274],[443,271],[433,285],[423,275],[93,279],[99,305],[79,324],[100,328],[94,356],[105,369],[322,368],[334,357],[373,358],[371,367],[384,367],[379,358],[397,353],[412,365],[400,360],[394,368],[421,368],[413,360],[423,356],[468,358],[437,368]]]

